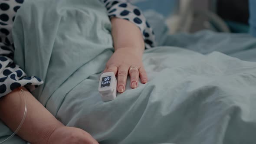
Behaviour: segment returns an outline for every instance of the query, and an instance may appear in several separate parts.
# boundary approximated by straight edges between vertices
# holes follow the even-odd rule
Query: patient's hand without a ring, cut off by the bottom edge
[[[51,134],[47,144],[98,144],[98,142],[82,129],[63,126]]]

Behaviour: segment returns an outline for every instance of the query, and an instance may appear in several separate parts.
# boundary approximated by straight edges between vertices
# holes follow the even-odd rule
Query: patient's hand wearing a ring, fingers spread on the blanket
[[[142,63],[143,50],[136,48],[119,48],[108,60],[104,72],[114,72],[118,75],[117,90],[125,91],[127,75],[131,77],[131,88],[138,87],[139,77],[142,83],[147,83],[148,78]]]

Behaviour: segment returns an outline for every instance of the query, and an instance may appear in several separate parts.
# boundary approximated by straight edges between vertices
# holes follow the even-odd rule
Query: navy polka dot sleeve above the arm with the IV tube
[[[11,28],[22,3],[23,0],[0,0],[0,97],[20,86],[26,86],[32,92],[43,84],[38,77],[27,76],[20,66],[13,62]]]

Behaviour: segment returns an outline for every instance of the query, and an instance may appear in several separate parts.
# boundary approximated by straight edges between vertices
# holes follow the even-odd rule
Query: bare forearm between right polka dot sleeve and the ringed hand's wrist
[[[128,20],[112,18],[112,37],[115,50],[130,48],[141,54],[144,52],[145,44],[140,29]]]

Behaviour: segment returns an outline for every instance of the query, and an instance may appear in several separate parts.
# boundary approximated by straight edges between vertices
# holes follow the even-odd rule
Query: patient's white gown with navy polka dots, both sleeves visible
[[[0,98],[15,88],[25,86],[30,92],[43,84],[36,76],[26,73],[13,62],[14,46],[11,34],[15,14],[24,0],[0,0]],[[154,33],[141,11],[127,0],[101,0],[108,16],[129,20],[135,23],[143,33],[145,47],[154,46]]]

